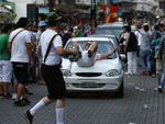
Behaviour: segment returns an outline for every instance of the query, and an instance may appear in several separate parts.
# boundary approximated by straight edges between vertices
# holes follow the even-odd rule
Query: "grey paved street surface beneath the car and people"
[[[158,93],[156,78],[124,77],[124,97],[110,94],[67,98],[65,124],[165,124],[165,93]],[[0,124],[25,124],[23,113],[46,95],[45,86],[29,86],[34,95],[29,106],[14,106],[11,99],[0,99]],[[55,124],[55,104],[40,110],[33,124]]]

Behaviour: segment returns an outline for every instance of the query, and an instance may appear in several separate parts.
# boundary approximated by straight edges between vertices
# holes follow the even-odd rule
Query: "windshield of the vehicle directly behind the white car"
[[[114,35],[119,37],[122,33],[122,26],[106,26],[106,27],[97,27],[96,33],[97,35]]]

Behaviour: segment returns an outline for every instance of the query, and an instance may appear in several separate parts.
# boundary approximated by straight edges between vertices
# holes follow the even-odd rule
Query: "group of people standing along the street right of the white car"
[[[140,65],[142,76],[157,77],[160,92],[163,92],[165,86],[164,36],[164,20],[158,20],[155,25],[138,23],[134,31],[125,24],[120,36],[121,52],[127,55],[125,75],[136,75]]]

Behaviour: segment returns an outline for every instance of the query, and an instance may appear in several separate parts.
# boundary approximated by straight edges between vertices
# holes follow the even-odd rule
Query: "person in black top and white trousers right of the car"
[[[135,34],[131,32],[130,25],[124,25],[123,32],[125,34],[124,53],[128,57],[128,71],[125,75],[134,75],[136,74],[138,40]]]

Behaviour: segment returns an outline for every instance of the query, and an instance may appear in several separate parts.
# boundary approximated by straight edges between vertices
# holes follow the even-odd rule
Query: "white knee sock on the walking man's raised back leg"
[[[46,105],[46,104],[41,100],[40,102],[37,102],[37,104],[35,104],[35,105],[30,110],[30,113],[31,113],[32,115],[34,115],[35,112],[36,112],[37,110],[40,110],[41,108],[43,108],[44,105]]]

